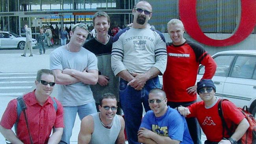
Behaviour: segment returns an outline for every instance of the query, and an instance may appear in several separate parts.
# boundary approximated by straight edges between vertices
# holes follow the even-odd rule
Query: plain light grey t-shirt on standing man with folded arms
[[[82,47],[79,52],[69,52],[65,46],[61,46],[50,54],[50,70],[70,68],[83,72],[86,67],[88,70],[98,70],[97,65],[95,54]],[[63,106],[78,106],[95,102],[90,86],[82,82],[58,85],[57,99]]]

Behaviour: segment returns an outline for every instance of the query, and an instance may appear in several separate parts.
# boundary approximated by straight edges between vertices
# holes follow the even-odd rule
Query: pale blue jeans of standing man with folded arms
[[[63,129],[63,135],[59,144],[69,144],[70,137],[72,135],[72,129],[76,120],[76,113],[78,113],[80,120],[82,120],[88,114],[97,113],[97,111],[95,102],[74,107],[63,107],[63,110],[65,127]]]

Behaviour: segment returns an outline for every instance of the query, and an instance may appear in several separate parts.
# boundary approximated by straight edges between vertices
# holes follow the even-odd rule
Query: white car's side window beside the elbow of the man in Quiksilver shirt
[[[219,55],[214,57],[214,61],[217,63],[217,69],[215,76],[228,76],[230,64],[233,61],[235,55]],[[204,74],[204,66],[201,66],[198,74]]]

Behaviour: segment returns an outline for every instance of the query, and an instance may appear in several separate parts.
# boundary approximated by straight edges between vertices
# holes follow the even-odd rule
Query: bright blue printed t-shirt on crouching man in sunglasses
[[[148,111],[140,127],[145,127],[158,135],[179,140],[180,144],[193,144],[184,116],[169,106],[166,113],[160,117],[156,117],[153,111]]]

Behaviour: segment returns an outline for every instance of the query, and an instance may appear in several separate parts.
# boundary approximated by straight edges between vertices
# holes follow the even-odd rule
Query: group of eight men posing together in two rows
[[[12,143],[29,143],[32,139],[35,144],[69,144],[78,113],[82,121],[79,144],[124,144],[124,127],[129,144],[201,144],[200,126],[207,144],[234,144],[239,140],[249,124],[242,114],[232,119],[239,113],[232,111],[235,106],[231,102],[223,102],[224,114],[233,113],[226,116],[228,126],[238,124],[239,132],[230,137],[216,133],[222,131],[222,125],[219,117],[215,120],[218,99],[210,79],[216,64],[211,56],[199,44],[184,39],[184,26],[178,19],[168,22],[173,42],[165,43],[163,34],[148,25],[152,17],[148,2],[135,4],[132,13],[132,26],[111,37],[110,18],[98,11],[93,17],[97,34],[85,44],[89,31],[84,24],[75,24],[69,43],[50,55],[50,70],[39,70],[36,89],[23,96],[30,125],[26,128],[23,113],[20,118],[14,113],[18,106],[17,100],[12,100],[0,122],[4,137]],[[195,85],[199,64],[205,66],[205,73]],[[163,90],[158,75],[163,75]],[[59,85],[59,101],[50,98],[55,83]],[[202,102],[196,102],[197,93]],[[117,115],[121,114],[120,107],[124,119]],[[142,118],[143,107],[147,113]],[[200,114],[202,109],[204,115]],[[206,117],[215,123],[205,126]],[[17,136],[11,130],[16,120]],[[210,132],[213,129],[216,131]]]

